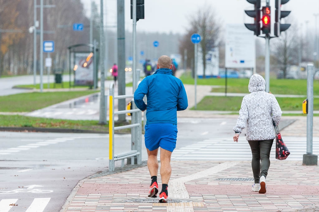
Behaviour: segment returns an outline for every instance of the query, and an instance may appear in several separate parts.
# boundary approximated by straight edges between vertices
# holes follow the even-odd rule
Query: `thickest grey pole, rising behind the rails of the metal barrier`
[[[125,95],[125,21],[124,0],[117,0],[117,61],[118,95]],[[118,110],[125,110],[125,99],[118,100]],[[118,115],[119,121],[125,122],[125,114]]]

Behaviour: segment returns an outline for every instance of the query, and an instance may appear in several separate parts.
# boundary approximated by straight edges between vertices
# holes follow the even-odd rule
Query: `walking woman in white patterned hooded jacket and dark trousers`
[[[265,92],[266,82],[262,76],[254,74],[250,77],[248,95],[244,96],[237,119],[234,141],[242,129],[247,126],[246,140],[251,148],[255,183],[253,191],[266,193],[266,177],[270,166],[270,150],[276,137],[274,126],[278,125],[281,118],[281,109],[274,95]]]

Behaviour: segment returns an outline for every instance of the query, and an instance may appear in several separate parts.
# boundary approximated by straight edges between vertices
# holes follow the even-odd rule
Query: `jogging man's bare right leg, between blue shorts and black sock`
[[[171,177],[171,155],[172,152],[166,149],[160,149],[160,176],[163,184],[168,184],[169,178]]]

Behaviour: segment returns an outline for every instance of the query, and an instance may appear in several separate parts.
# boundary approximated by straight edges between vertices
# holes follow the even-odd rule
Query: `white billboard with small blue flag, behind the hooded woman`
[[[255,36],[243,24],[226,26],[226,68],[255,68]]]

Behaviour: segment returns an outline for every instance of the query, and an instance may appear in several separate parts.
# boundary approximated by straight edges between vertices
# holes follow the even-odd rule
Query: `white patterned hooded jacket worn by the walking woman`
[[[239,117],[233,130],[241,133],[247,125],[247,140],[271,140],[276,137],[273,121],[278,125],[281,109],[276,97],[265,92],[266,82],[262,76],[250,77],[248,95],[244,96]]]

